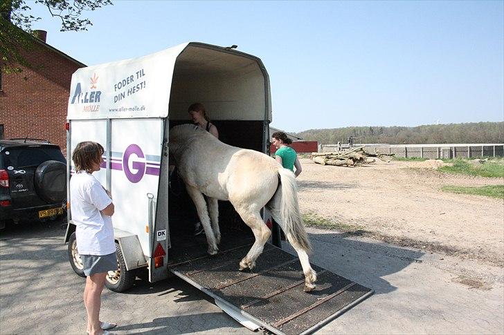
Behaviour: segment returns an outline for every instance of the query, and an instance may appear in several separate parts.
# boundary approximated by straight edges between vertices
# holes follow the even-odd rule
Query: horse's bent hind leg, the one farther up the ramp
[[[258,259],[259,255],[264,249],[264,244],[266,244],[271,231],[267,225],[262,220],[259,211],[249,211],[247,209],[236,209],[238,214],[247,226],[251,227],[252,232],[255,236],[255,242],[252,245],[249,253],[240,262],[240,271],[244,269],[252,269],[255,267],[255,260]]]

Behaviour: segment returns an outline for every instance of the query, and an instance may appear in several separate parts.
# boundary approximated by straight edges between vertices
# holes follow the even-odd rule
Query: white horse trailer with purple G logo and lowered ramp
[[[80,68],[72,76],[67,181],[75,146],[99,142],[105,162],[94,175],[111,190],[116,206],[118,270],[109,272],[107,287],[124,291],[136,276],[155,282],[175,274],[215,298],[243,325],[278,334],[312,332],[372,294],[316,266],[318,287],[311,294],[303,292],[299,260],[282,251],[278,227],[265,210],[264,222],[273,233],[253,272],[238,271],[253,235],[226,202],[219,202],[219,253],[206,253],[204,236],[192,233],[196,217],[183,182],[170,182],[168,173],[170,128],[188,122],[187,108],[194,102],[206,106],[222,142],[269,153],[269,77],[258,57],[186,43]],[[71,207],[68,213],[69,260],[84,276]]]

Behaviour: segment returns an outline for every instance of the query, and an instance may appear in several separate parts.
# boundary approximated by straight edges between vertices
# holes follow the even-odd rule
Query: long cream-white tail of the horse
[[[278,175],[280,175],[280,185],[278,185],[278,189],[269,204],[271,214],[284,229],[289,242],[309,253],[312,250],[312,245],[308,240],[303,218],[301,218],[299,211],[296,177],[292,171],[282,167],[278,169]],[[278,218],[279,214],[280,218]]]

